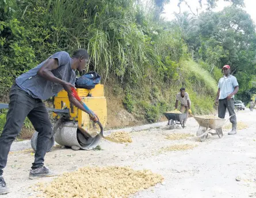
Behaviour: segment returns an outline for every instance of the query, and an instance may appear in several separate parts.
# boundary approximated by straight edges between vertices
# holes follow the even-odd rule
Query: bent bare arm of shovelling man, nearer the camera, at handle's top
[[[71,83],[59,79],[58,77],[54,76],[54,74],[51,72],[52,70],[57,69],[58,67],[58,60],[48,59],[44,63],[44,65],[37,71],[37,75],[44,77],[45,79],[52,81],[53,83],[61,84],[65,91],[71,92],[71,87],[75,86]]]

